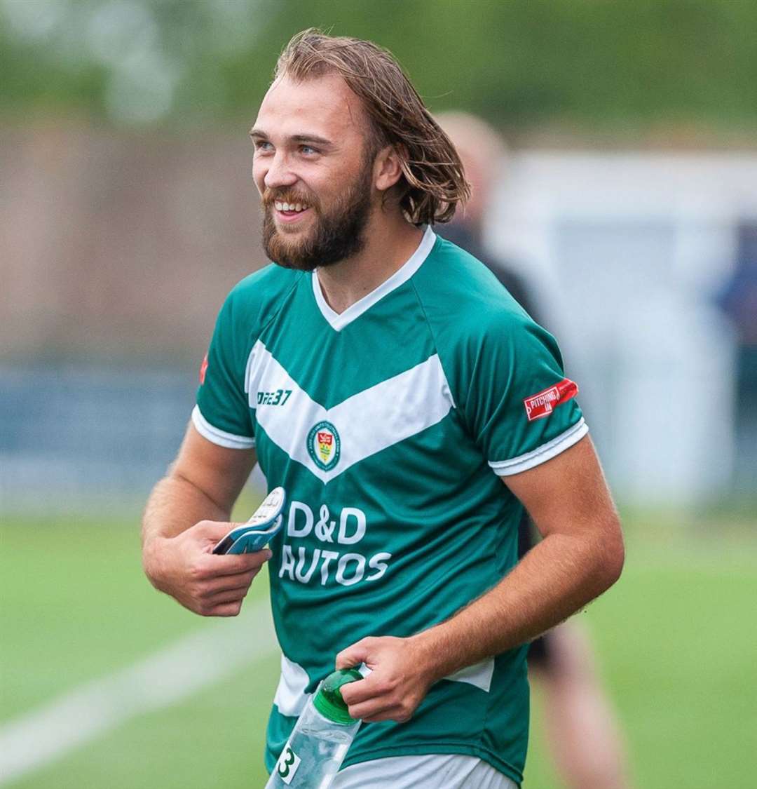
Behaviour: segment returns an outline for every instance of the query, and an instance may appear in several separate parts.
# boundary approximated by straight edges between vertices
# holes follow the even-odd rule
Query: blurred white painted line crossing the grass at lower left
[[[0,784],[145,712],[161,709],[278,649],[267,601],[224,619],[0,727]]]

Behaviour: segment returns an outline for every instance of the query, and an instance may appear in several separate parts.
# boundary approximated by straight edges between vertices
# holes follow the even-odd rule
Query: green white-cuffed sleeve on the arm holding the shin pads
[[[232,292],[218,314],[200,369],[192,422],[201,436],[221,447],[250,449],[255,446],[255,426],[244,391],[249,332],[234,307]]]

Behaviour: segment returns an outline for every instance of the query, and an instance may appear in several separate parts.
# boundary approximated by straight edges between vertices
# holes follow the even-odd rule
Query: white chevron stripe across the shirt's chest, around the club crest
[[[436,353],[330,409],[311,399],[259,340],[248,358],[244,380],[249,406],[255,409],[260,427],[323,483],[371,454],[437,424],[455,406]],[[278,389],[291,390],[292,394],[277,406],[258,405],[259,391]],[[315,465],[307,445],[311,428],[324,420],[334,424],[341,439],[340,458],[326,470]]]

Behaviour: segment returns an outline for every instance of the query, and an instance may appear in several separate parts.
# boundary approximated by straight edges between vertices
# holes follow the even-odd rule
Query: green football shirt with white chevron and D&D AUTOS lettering
[[[234,288],[192,416],[214,443],[256,447],[289,497],[270,545],[283,657],[269,769],[341,649],[424,630],[513,567],[522,509],[499,476],[586,434],[573,394],[554,339],[431,228],[341,314],[311,273],[270,265]],[[520,783],[525,654],[438,682],[405,724],[365,725],[345,765],[468,753]]]

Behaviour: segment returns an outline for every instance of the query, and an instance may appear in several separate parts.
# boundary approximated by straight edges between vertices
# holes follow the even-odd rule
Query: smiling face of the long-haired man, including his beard
[[[312,271],[355,255],[374,199],[367,118],[337,75],[271,85],[250,133],[270,260]]]

